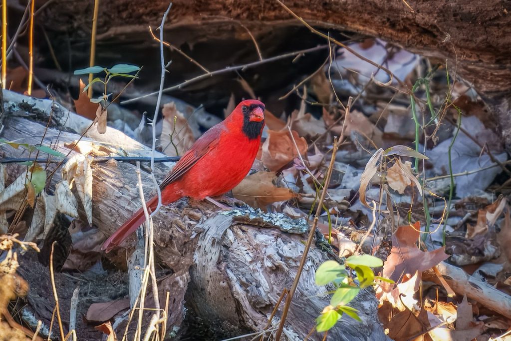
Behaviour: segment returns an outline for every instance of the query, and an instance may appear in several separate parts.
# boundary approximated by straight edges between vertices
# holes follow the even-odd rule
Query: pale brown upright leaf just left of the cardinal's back
[[[163,114],[163,123],[161,126],[160,147],[162,153],[168,156],[178,156],[184,154],[195,142],[193,131],[188,125],[188,120],[177,110],[176,104],[170,102],[164,104],[161,109]],[[175,129],[174,129],[175,120]],[[174,134],[172,134],[174,132]],[[171,137],[172,136],[172,141]],[[174,145],[172,145],[172,143]],[[176,151],[177,149],[177,151]]]

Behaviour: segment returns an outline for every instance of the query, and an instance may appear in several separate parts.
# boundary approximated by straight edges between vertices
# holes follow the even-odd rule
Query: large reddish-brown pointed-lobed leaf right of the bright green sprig
[[[421,251],[415,244],[419,240],[421,223],[399,226],[392,235],[392,249],[387,261],[383,265],[383,276],[394,282],[405,274],[415,274],[419,271],[419,280],[422,272],[432,268],[449,258],[445,253],[445,246],[434,251]]]

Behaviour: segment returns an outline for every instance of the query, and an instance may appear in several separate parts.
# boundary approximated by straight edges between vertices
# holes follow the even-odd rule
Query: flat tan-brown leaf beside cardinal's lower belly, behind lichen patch
[[[294,198],[296,194],[288,188],[273,185],[274,172],[257,172],[241,181],[241,184],[233,189],[235,198],[242,200],[251,207],[266,209],[272,202],[286,201]]]

